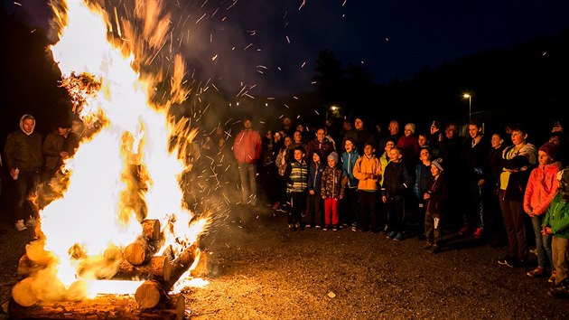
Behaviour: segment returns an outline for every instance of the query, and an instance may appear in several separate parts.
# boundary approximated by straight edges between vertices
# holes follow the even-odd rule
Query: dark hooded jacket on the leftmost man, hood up
[[[5,165],[7,171],[18,168],[21,171],[39,171],[42,169],[42,136],[37,132],[23,131],[23,119],[33,118],[25,114],[20,118],[20,130],[16,130],[6,137],[4,147]],[[35,128],[35,119],[34,127]]]

